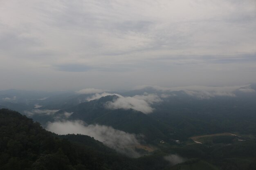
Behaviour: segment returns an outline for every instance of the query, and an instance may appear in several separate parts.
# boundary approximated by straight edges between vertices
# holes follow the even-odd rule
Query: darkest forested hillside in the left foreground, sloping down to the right
[[[0,170],[138,169],[91,137],[83,142],[86,147],[72,144],[18,112],[0,109]]]

